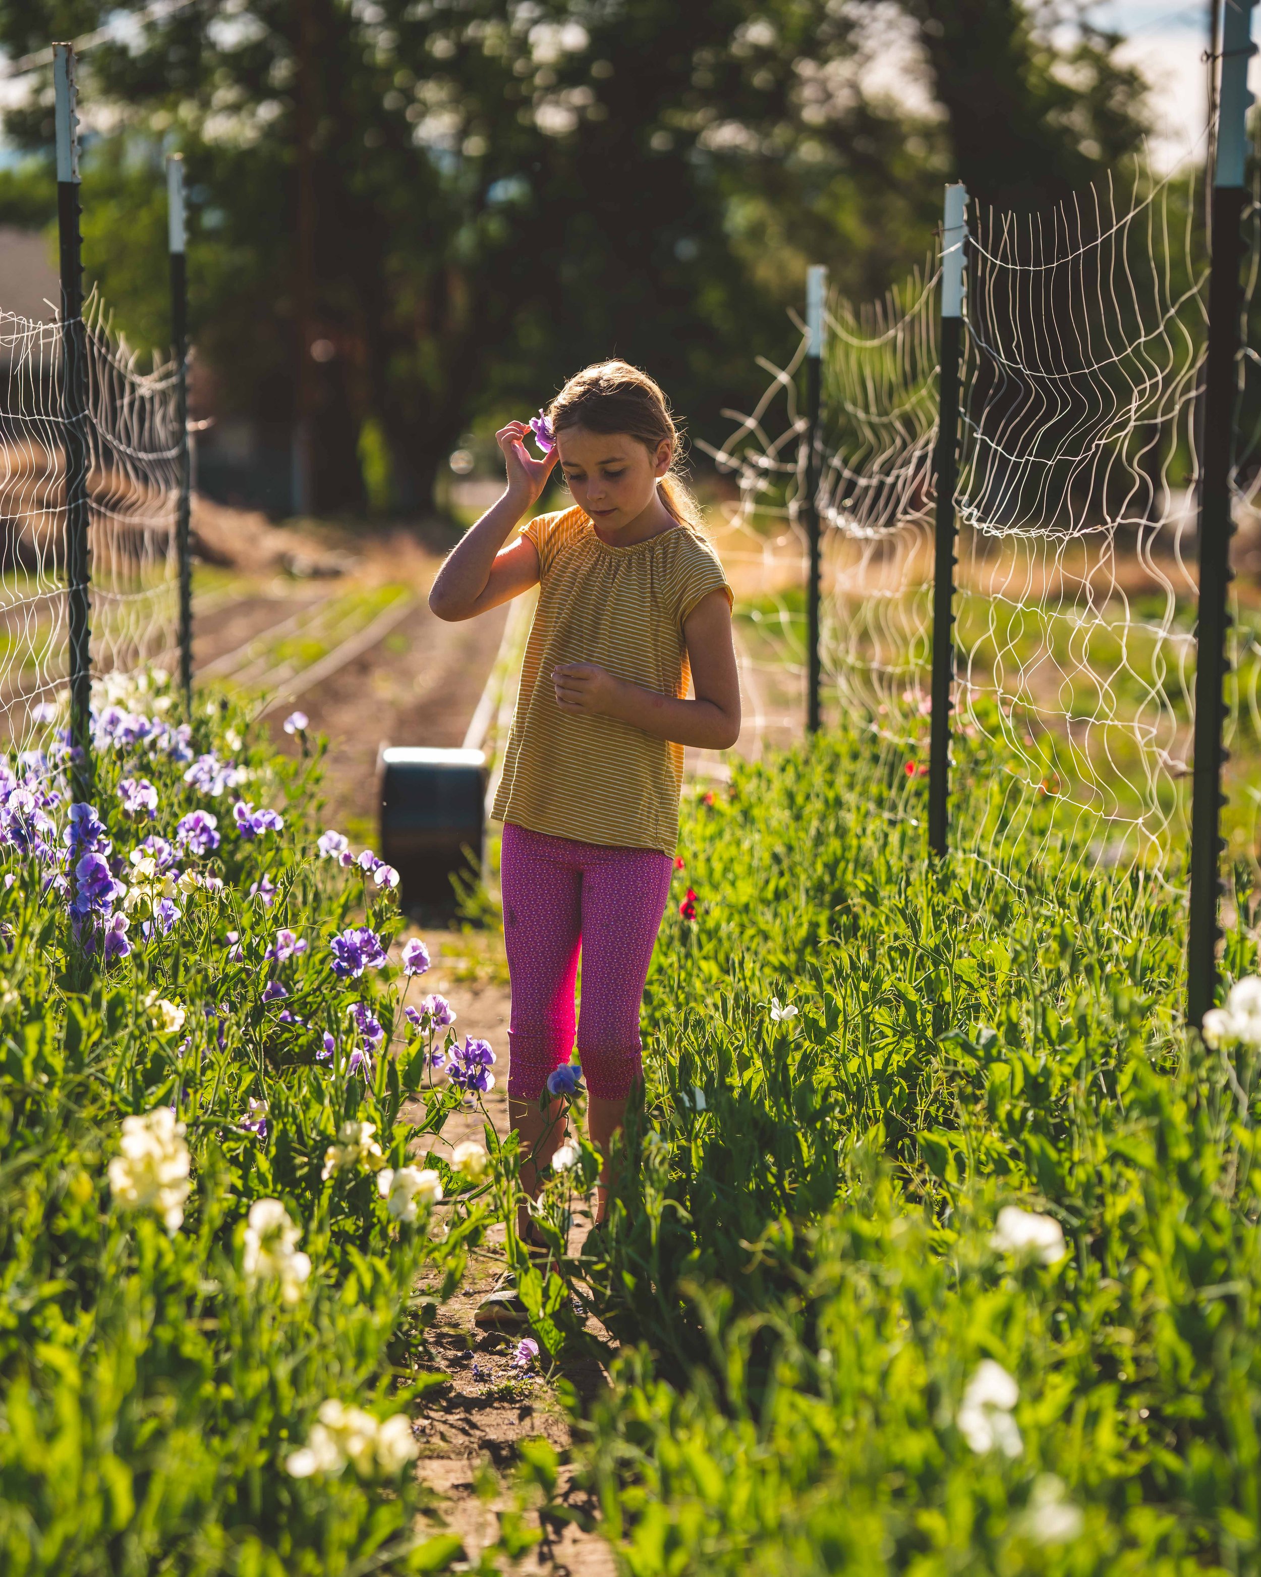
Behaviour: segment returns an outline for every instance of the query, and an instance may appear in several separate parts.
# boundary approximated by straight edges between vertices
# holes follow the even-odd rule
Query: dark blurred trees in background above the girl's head
[[[1012,188],[1080,183],[1136,125],[1102,68],[1075,96],[1010,0],[949,0],[949,27],[906,3],[944,118],[864,90],[864,0],[191,0],[85,57],[88,267],[132,334],[161,331],[161,151],[183,148],[199,352],[222,408],[306,432],[322,509],[363,505],[366,464],[375,501],[424,505],[474,416],[597,356],[714,431],[760,380],[750,345],[791,345],[809,262],[864,296],[924,257],[952,164],[1004,142],[974,125],[985,95],[1014,101]],[[966,6],[999,36],[965,93]],[[0,46],[120,9],[142,8],[0,0]],[[49,148],[46,80],[6,125]]]

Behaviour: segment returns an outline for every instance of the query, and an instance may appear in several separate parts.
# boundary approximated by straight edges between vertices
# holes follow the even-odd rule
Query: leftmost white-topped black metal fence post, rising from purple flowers
[[[91,796],[91,628],[88,607],[88,344],[79,235],[79,117],[74,46],[54,44],[57,232],[61,263],[61,432],[66,449],[66,617],[71,773],[77,803]]]

